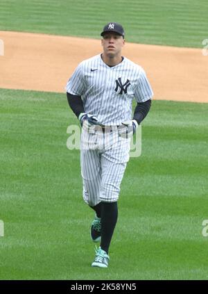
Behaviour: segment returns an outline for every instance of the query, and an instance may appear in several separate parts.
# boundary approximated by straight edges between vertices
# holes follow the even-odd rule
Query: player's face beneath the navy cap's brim
[[[122,35],[110,32],[103,35],[101,44],[105,54],[107,56],[113,57],[121,54],[121,49],[125,44],[125,40],[123,39]]]

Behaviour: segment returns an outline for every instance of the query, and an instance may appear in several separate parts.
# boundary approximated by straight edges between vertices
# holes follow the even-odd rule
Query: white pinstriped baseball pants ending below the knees
[[[116,202],[129,160],[130,139],[117,131],[82,130],[80,163],[83,199],[89,206],[99,202]]]

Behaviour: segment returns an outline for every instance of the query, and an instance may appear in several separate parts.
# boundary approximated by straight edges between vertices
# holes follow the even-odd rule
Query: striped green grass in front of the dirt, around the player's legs
[[[207,104],[153,101],[121,185],[110,267],[91,268],[63,94],[0,90],[0,279],[208,279]]]

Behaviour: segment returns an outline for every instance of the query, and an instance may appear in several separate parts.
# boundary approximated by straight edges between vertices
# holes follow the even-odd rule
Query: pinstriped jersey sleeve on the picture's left
[[[86,81],[83,76],[82,63],[76,67],[71,78],[67,82],[67,92],[72,95],[81,96],[86,90]]]

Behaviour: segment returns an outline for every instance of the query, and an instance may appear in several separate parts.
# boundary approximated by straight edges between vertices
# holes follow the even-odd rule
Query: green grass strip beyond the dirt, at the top
[[[0,30],[100,38],[114,21],[129,42],[202,48],[207,10],[207,0],[1,0]]]

